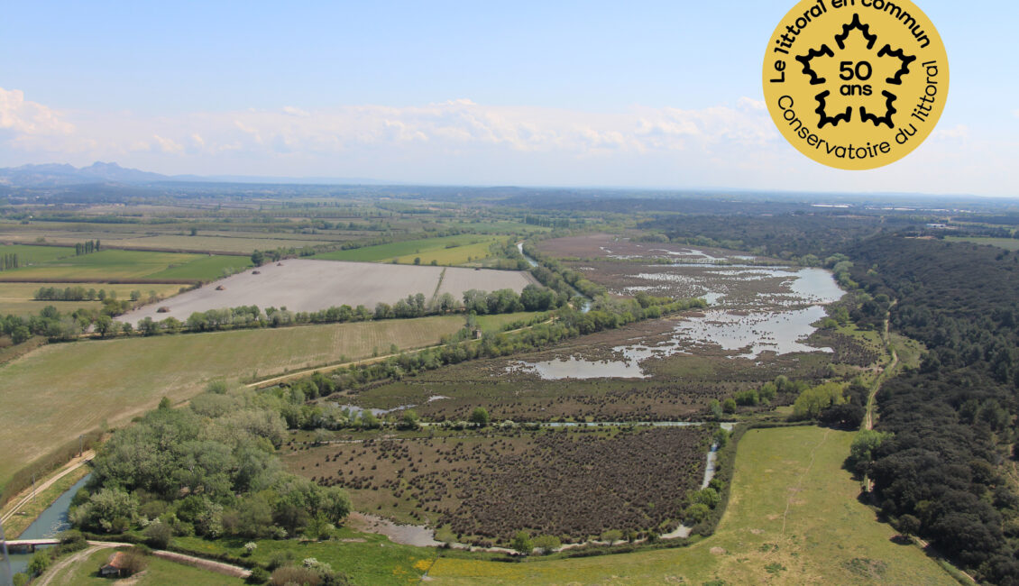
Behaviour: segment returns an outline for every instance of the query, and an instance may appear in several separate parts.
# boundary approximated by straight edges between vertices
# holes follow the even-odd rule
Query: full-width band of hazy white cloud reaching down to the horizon
[[[361,176],[400,181],[1000,193],[1016,145],[940,126],[873,172],[822,167],[781,138],[765,104],[621,111],[491,106],[239,109],[171,116],[54,112],[0,89],[0,159],[114,160],[166,173]],[[172,155],[172,156],[170,156]],[[1015,194],[1013,194],[1015,195]]]

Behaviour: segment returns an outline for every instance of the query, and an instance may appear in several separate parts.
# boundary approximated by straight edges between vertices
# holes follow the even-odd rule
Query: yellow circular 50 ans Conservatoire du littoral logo
[[[804,0],[764,53],[771,119],[801,153],[873,169],[930,135],[949,93],[937,31],[909,0]]]

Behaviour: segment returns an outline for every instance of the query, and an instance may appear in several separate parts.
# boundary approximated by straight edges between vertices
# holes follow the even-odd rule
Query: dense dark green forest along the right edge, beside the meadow
[[[980,581],[1016,583],[1019,495],[1005,469],[1019,440],[1019,255],[892,235],[847,254],[872,312],[890,309],[928,349],[918,370],[884,383],[875,432],[850,464],[900,531]]]

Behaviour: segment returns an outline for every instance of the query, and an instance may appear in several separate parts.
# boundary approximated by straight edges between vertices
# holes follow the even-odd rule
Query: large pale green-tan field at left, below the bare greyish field
[[[163,396],[186,399],[213,379],[429,345],[463,324],[461,316],[428,317],[43,347],[0,367],[0,483],[104,421],[123,423]]]

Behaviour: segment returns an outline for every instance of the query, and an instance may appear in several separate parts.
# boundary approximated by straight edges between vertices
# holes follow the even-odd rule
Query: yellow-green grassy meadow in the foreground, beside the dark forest
[[[842,469],[853,433],[751,430],[740,440],[729,507],[689,547],[521,564],[439,557],[435,584],[957,584],[857,500]]]

